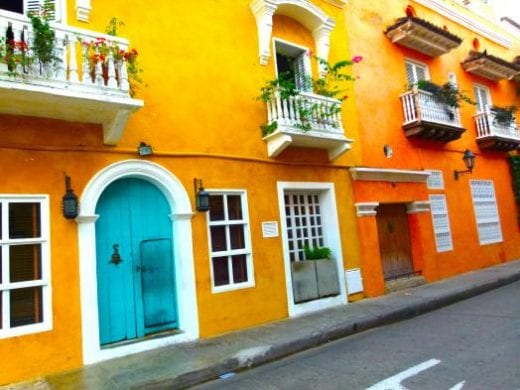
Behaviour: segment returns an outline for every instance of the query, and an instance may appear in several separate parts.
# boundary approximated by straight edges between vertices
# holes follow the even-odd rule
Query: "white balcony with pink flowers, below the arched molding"
[[[310,114],[302,116],[302,107]],[[308,92],[288,99],[276,95],[267,102],[267,115],[268,125],[277,124],[276,130],[263,138],[271,158],[296,146],[325,149],[332,161],[349,150],[353,142],[344,135],[341,101],[337,99]]]

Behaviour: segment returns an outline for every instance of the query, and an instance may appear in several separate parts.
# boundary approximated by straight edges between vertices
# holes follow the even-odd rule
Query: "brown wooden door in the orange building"
[[[413,273],[406,205],[380,205],[377,208],[376,221],[385,280]]]

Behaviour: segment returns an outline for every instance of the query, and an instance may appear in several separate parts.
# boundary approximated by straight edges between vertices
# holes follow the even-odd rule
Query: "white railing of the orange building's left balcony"
[[[431,122],[460,127],[459,110],[439,102],[431,92],[409,91],[401,95],[404,125],[414,122]]]

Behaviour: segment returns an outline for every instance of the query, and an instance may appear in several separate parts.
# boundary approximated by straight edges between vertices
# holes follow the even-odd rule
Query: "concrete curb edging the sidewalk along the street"
[[[487,270],[480,270],[476,272],[486,272]],[[492,270],[490,270],[492,272]],[[520,280],[520,273],[513,273],[509,275],[500,276],[497,279],[490,280],[487,282],[476,283],[473,286],[468,286],[462,283],[459,289],[442,293],[442,288],[439,288],[441,284],[457,284],[458,280],[467,277],[471,278],[471,274],[461,275],[452,279],[445,279],[435,284],[424,285],[421,287],[414,288],[411,291],[421,291],[427,289],[439,290],[438,296],[434,299],[420,298],[418,302],[408,303],[404,307],[391,307],[389,310],[383,313],[370,314],[361,319],[346,319],[341,324],[333,324],[330,327],[321,329],[320,331],[313,332],[308,337],[302,337],[297,340],[289,342],[280,342],[270,346],[265,351],[258,351],[251,355],[244,357],[232,356],[224,358],[220,362],[213,363],[207,367],[194,370],[185,374],[181,374],[172,378],[164,378],[153,382],[140,383],[132,388],[134,389],[165,389],[175,388],[183,389],[190,386],[195,386],[203,382],[216,379],[220,375],[229,373],[232,371],[244,370],[254,366],[268,363],[270,361],[280,359],[306,349],[314,348],[321,344],[327,343],[332,340],[340,339],[346,336],[350,336],[368,329],[376,328],[382,325],[390,324],[393,322],[409,319],[420,314],[428,313],[430,311],[440,309],[458,301],[474,297],[484,292],[496,289],[498,287],[505,286],[507,284],[514,283]],[[396,293],[398,294],[398,293]],[[383,298],[376,298],[374,301],[383,301]],[[372,301],[372,302],[374,302]],[[365,301],[361,301],[359,304],[363,304]]]

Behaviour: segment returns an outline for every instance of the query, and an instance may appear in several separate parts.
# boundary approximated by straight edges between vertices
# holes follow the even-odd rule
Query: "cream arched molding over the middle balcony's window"
[[[258,28],[258,49],[261,65],[267,65],[271,57],[269,43],[273,32],[273,15],[289,16],[312,32],[316,41],[316,55],[328,59],[330,32],[336,22],[327,14],[308,0],[253,0],[249,5],[255,15]],[[320,65],[319,73],[325,73],[323,65]]]

